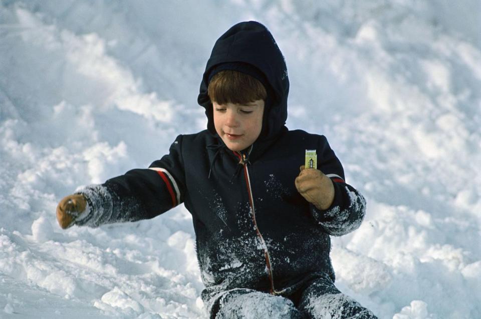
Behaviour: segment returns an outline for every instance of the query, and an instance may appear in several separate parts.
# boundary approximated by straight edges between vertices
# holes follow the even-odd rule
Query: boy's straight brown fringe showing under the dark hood
[[[210,100],[218,104],[243,104],[267,98],[267,90],[261,81],[234,70],[216,73],[210,80],[207,90]]]

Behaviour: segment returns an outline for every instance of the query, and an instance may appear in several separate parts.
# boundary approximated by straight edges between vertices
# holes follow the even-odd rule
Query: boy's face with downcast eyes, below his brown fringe
[[[264,100],[246,104],[212,104],[215,131],[230,150],[243,150],[256,141],[262,129]]]

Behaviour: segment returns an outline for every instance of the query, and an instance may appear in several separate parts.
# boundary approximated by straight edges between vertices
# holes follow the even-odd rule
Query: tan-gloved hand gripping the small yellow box
[[[334,200],[334,185],[331,178],[315,168],[301,166],[301,173],[295,180],[296,188],[307,201],[317,209],[327,209]]]

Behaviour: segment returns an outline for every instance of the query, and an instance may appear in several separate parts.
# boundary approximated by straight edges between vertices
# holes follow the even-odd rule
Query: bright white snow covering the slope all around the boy
[[[58,200],[205,127],[215,39],[256,19],[290,128],[368,199],[337,285],[381,318],[481,317],[481,2],[0,2],[0,318],[205,318],[191,218],[63,231]]]

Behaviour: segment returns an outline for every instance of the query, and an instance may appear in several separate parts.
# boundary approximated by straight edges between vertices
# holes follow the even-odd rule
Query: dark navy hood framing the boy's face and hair
[[[209,74],[224,63],[248,63],[265,75],[268,98],[264,109],[263,128],[258,140],[267,140],[285,130],[289,77],[286,62],[276,40],[263,24],[240,22],[229,28],[217,41],[207,61],[197,102],[205,108],[207,129],[215,133],[212,102],[207,94]]]

